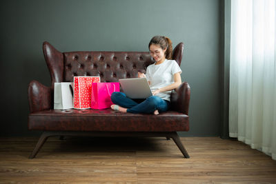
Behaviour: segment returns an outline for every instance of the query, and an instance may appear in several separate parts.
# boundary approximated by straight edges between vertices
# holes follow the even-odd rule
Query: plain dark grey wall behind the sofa
[[[28,83],[50,85],[42,43],[61,52],[147,51],[157,34],[184,42],[182,81],[191,86],[190,131],[219,136],[221,19],[219,0],[0,1],[1,136],[28,131]]]

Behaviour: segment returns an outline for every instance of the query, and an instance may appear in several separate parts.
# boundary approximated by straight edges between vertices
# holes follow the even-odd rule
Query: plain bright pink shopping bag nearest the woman
[[[110,108],[113,104],[110,99],[112,92],[119,91],[119,83],[92,83],[91,108],[97,110]]]

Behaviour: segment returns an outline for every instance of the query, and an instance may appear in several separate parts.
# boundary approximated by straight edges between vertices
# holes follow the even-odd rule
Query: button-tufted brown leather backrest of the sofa
[[[64,80],[74,76],[100,76],[101,82],[135,78],[154,63],[148,52],[64,52]]]

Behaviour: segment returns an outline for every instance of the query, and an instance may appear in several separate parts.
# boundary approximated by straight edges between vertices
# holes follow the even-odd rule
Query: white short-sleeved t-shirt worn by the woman
[[[146,70],[146,79],[150,81],[150,90],[154,91],[174,83],[173,75],[177,72],[181,74],[182,70],[175,60],[165,59],[165,61],[159,65],[155,65],[155,63],[149,65]],[[156,96],[170,101],[171,92],[172,91],[159,92]]]

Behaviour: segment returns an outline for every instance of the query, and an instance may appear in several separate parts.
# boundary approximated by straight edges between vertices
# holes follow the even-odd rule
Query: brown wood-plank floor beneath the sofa
[[[181,138],[0,138],[0,183],[276,183],[276,161],[235,140]]]

